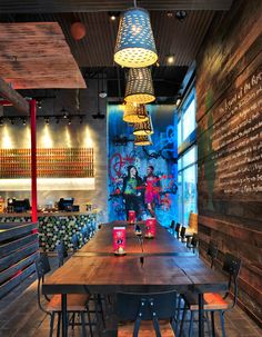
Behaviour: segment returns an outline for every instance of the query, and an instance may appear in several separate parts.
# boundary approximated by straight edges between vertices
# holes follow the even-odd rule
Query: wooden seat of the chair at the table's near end
[[[124,323],[118,327],[118,337],[130,337],[133,334],[134,323]],[[160,331],[162,337],[174,337],[174,331],[168,320],[159,320]],[[152,320],[141,321],[139,337],[153,337],[155,331]]]

